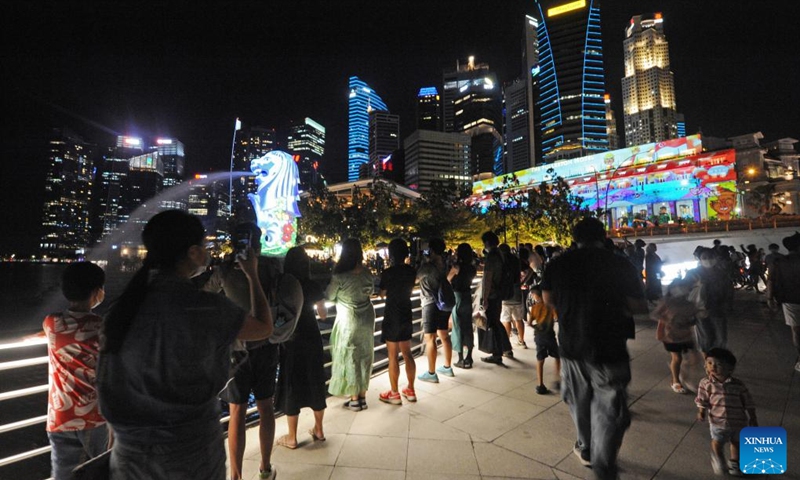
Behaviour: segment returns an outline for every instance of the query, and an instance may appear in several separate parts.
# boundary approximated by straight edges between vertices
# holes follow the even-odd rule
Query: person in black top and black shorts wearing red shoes
[[[408,258],[408,245],[405,240],[395,238],[389,242],[389,262],[391,267],[381,274],[381,283],[378,287],[381,297],[386,299],[383,308],[383,323],[381,323],[381,340],[386,343],[389,355],[389,384],[391,390],[378,395],[382,402],[392,405],[401,405],[403,400],[400,394],[409,402],[417,401],[414,392],[414,379],[417,376],[417,365],[411,355],[411,291],[414,289],[417,272],[410,265],[406,265]],[[400,363],[397,354],[402,353],[406,366],[408,387],[402,392],[398,390],[400,378]]]

